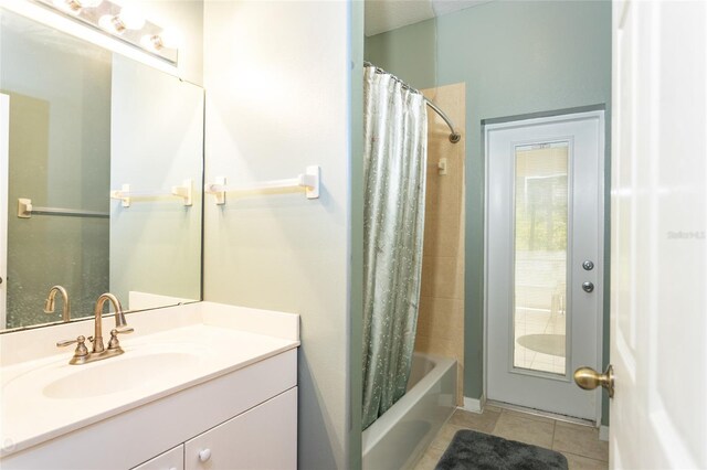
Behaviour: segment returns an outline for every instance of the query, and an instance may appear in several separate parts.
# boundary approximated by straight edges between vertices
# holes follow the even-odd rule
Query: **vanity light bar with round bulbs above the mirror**
[[[170,32],[148,21],[131,4],[110,0],[36,0],[71,19],[139,47],[149,54],[177,65],[178,44],[168,40]]]

